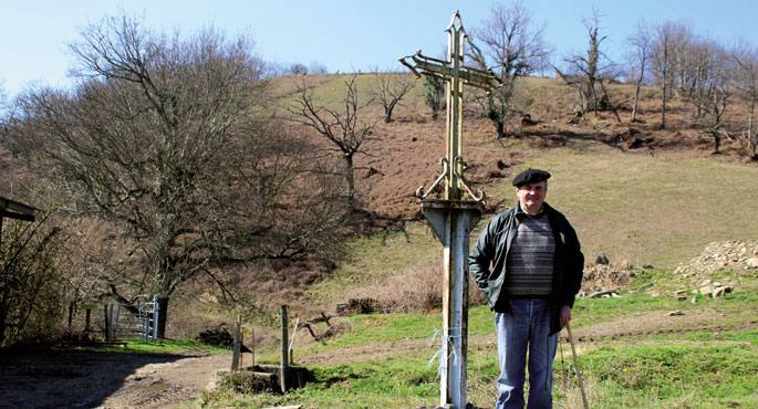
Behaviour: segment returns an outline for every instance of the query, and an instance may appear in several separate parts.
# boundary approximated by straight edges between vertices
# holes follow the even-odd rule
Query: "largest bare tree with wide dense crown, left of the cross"
[[[14,132],[73,214],[113,223],[129,248],[133,275],[103,277],[114,296],[167,300],[198,273],[302,258],[334,235],[331,204],[301,208],[301,165],[261,119],[266,83],[245,39],[167,38],[124,17],[87,27],[71,50],[76,88],[27,92]]]

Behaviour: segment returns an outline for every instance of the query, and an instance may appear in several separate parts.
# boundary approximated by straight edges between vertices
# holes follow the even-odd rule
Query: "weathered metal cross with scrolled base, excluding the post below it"
[[[467,192],[475,201],[481,201],[482,195],[475,195],[464,178],[466,162],[463,156],[463,109],[464,85],[487,92],[501,85],[491,71],[477,70],[464,65],[464,48],[468,35],[464,30],[458,11],[453,13],[447,29],[447,61],[425,56],[420,50],[416,54],[404,56],[399,62],[407,66],[417,77],[432,76],[446,82],[447,95],[447,150],[442,159],[443,172],[432,183],[426,195],[445,180],[445,200],[461,200],[461,191]],[[426,198],[424,195],[423,199]]]

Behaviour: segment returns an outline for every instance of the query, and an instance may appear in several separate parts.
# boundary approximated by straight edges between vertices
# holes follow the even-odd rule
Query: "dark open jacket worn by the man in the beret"
[[[550,305],[553,310],[551,333],[561,329],[559,313],[562,305],[573,306],[574,298],[582,283],[584,255],[579,244],[577,232],[565,217],[544,203],[550,227],[555,238],[555,258],[553,262],[552,293]],[[479,234],[479,240],[471,248],[468,269],[479,290],[485,293],[490,308],[495,308],[500,296],[500,289],[506,274],[506,260],[519,223],[527,214],[516,204],[515,208],[497,214]],[[505,304],[507,305],[507,303]]]

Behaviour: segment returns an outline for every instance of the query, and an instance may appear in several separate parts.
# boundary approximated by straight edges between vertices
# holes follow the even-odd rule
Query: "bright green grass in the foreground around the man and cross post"
[[[704,301],[697,306],[672,298],[626,294],[622,298],[579,300],[574,332],[614,318],[666,311],[705,307],[716,311],[758,312],[758,300],[740,297]],[[388,314],[343,318],[349,332],[325,345],[298,348],[299,361],[332,357],[331,363],[307,365],[315,381],[285,396],[239,395],[217,390],[205,396],[210,407],[415,408],[436,403],[437,361],[429,359],[439,315]],[[497,365],[491,313],[470,312],[469,401],[486,408],[494,401]],[[580,367],[593,408],[755,408],[758,402],[758,332],[737,329],[642,335],[621,340],[580,344]],[[581,405],[571,370],[570,349],[561,344],[555,360],[554,396],[559,408]],[[276,361],[270,352],[262,357]]]

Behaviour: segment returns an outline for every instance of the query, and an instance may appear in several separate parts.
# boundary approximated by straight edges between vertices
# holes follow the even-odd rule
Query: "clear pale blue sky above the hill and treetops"
[[[123,10],[144,15],[156,30],[190,33],[214,25],[250,34],[257,53],[284,64],[318,61],[331,72],[399,67],[397,59],[418,49],[434,55],[445,44],[454,10],[465,27],[484,20],[492,1],[468,0],[0,0],[0,87],[13,95],[33,83],[68,86],[72,57],[66,44],[87,22]],[[637,20],[688,21],[695,31],[724,42],[758,44],[758,2],[750,0],[526,0],[533,21],[558,55],[585,46],[582,18],[596,9],[609,35],[608,52],[620,57]]]

